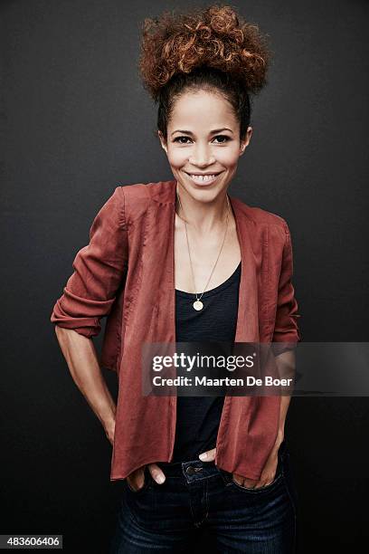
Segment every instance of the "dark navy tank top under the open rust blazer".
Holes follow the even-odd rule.
[[[176,342],[234,342],[240,277],[241,262],[227,281],[203,293],[200,311],[194,310],[194,293],[175,289]],[[215,448],[223,403],[224,396],[177,396],[172,463],[197,460]]]

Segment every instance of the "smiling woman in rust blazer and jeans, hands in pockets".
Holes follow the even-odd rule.
[[[201,529],[222,552],[295,548],[289,396],[144,396],[140,378],[141,348],[158,342],[273,341],[293,361],[289,227],[227,194],[268,62],[258,27],[229,6],[146,20],[140,70],[175,180],[116,188],[52,312],[123,480],[112,552],[185,551]],[[118,372],[117,406],[100,365]]]

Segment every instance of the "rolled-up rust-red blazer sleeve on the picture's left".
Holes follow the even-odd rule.
[[[74,272],[56,301],[51,321],[92,337],[99,334],[100,318],[107,316],[128,266],[125,196],[117,186],[90,227],[90,244],[72,263]]]

